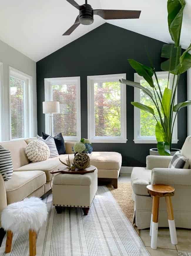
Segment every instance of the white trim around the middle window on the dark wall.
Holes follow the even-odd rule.
[[[126,85],[121,84],[121,136],[104,137],[95,136],[94,133],[94,83],[95,82],[113,82],[119,79],[126,79],[126,74],[112,74],[87,76],[88,84],[88,139],[93,143],[126,143],[127,142],[127,124],[126,124]]]

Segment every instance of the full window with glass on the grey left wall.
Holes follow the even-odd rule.
[[[31,136],[32,77],[9,67],[10,140]]]

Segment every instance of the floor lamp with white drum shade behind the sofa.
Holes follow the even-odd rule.
[[[43,107],[43,114],[50,114],[51,135],[53,136],[52,117],[53,117],[53,114],[60,113],[60,103],[58,101],[43,101],[42,107]]]

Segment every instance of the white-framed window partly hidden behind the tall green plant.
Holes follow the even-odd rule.
[[[158,76],[158,81],[161,87],[162,92],[164,92],[165,87],[167,86],[168,81],[168,72],[156,72]],[[142,76],[139,76],[137,73],[134,74],[135,82],[140,83],[147,89],[152,89],[150,85],[145,81]],[[153,76],[153,81],[155,83],[156,88],[158,88],[156,84],[156,79]],[[169,85],[172,88],[173,75],[170,74]],[[142,104],[148,105],[154,109],[155,115],[159,120],[157,109],[153,103],[153,101],[148,97],[142,90],[138,88],[134,88],[134,101],[140,102]],[[175,98],[175,102],[177,102],[177,95]],[[134,142],[135,143],[157,143],[155,137],[155,126],[156,120],[153,116],[134,107]],[[174,133],[172,138],[172,143],[177,143],[177,120],[175,122]]]

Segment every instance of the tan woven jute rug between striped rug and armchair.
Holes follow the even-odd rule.
[[[111,191],[113,197],[118,202],[121,210],[128,218],[130,223],[133,225],[133,215],[134,215],[134,201],[131,198],[132,195],[132,187],[130,183],[122,183],[118,182],[118,188],[115,189],[110,185],[107,186],[108,189]],[[139,235],[138,228],[133,225],[135,231]]]

